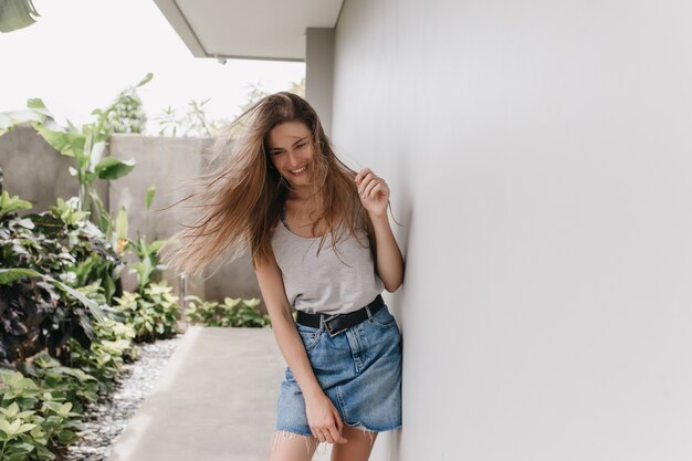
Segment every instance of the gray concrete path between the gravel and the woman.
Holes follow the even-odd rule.
[[[188,328],[108,461],[265,461],[284,369],[269,328]]]

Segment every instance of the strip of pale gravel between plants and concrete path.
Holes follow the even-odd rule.
[[[88,405],[76,443],[67,448],[64,461],[105,461],[129,419],[149,392],[161,369],[168,363],[182,335],[139,344],[139,358],[123,366],[113,394]]]

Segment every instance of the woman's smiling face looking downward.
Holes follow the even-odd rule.
[[[313,172],[313,143],[302,122],[276,125],[269,133],[269,156],[274,168],[294,188],[308,186]]]

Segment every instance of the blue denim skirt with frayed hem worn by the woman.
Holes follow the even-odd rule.
[[[386,305],[334,337],[324,324],[296,327],[315,377],[345,425],[375,432],[401,427],[401,333]],[[281,384],[276,430],[312,436],[290,368]]]

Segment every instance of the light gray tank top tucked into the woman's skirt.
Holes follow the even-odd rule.
[[[305,238],[279,222],[272,249],[281,269],[286,296],[293,307],[308,313],[346,314],[370,303],[384,284],[375,272],[365,229],[332,248],[327,235],[319,255],[321,238]],[[364,247],[365,245],[365,247]]]

